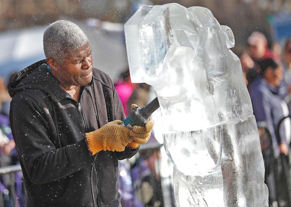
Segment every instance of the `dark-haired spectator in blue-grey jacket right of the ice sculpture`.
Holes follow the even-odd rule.
[[[275,156],[280,153],[288,155],[287,137],[290,137],[290,125],[282,125],[280,129],[281,141],[277,142],[276,126],[281,118],[289,114],[283,97],[279,95],[279,85],[283,79],[283,65],[281,62],[267,58],[262,61],[260,75],[249,86],[249,93],[257,122],[266,122],[272,137]],[[288,120],[286,120],[288,121]]]

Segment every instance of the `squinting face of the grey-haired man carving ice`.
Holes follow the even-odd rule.
[[[84,86],[92,80],[92,55],[89,42],[68,53],[62,64],[57,65],[55,76],[65,87]]]

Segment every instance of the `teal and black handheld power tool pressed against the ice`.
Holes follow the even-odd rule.
[[[149,121],[149,117],[154,111],[160,107],[158,97],[153,99],[149,104],[144,107],[136,107],[130,112],[129,116],[121,122],[120,125],[125,126],[128,129],[133,129],[133,126],[145,126]]]

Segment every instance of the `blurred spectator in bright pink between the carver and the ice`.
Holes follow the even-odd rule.
[[[119,79],[114,84],[115,90],[121,100],[125,116],[129,115],[130,111],[127,108],[127,102],[134,88],[137,85],[138,84],[131,82],[130,75],[129,75],[129,68],[127,68],[125,71],[120,73]]]

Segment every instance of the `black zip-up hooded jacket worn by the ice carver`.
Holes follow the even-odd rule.
[[[120,207],[118,159],[138,149],[102,150],[93,157],[85,143],[86,132],[125,118],[109,76],[94,68],[77,102],[42,60],[19,72],[8,89],[27,206]]]

